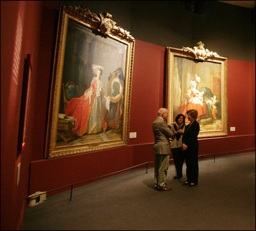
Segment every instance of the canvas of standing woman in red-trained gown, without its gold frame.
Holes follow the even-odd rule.
[[[92,29],[69,20],[62,86],[65,88],[66,83],[73,84],[69,84],[61,93],[56,147],[121,140],[126,53],[126,44],[106,36],[95,35]],[[95,80],[97,68],[101,70],[98,81]],[[90,92],[96,95],[90,95]],[[64,102],[64,93],[67,103]],[[87,103],[81,99],[86,94],[88,99],[90,98],[87,100],[88,105],[83,106],[80,111],[80,104]],[[97,97],[99,94],[101,96]],[[114,100],[115,97],[117,100]],[[68,110],[71,99],[74,105]],[[98,102],[95,102],[96,99]],[[66,122],[69,120],[66,127],[70,129],[65,129],[64,117]],[[105,127],[102,125],[103,129],[90,131],[90,124],[97,122],[107,124]],[[80,129],[80,132],[79,128],[75,129],[76,123],[80,123],[80,126],[88,123],[87,129]]]

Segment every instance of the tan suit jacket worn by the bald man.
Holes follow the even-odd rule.
[[[171,154],[169,138],[173,135],[173,131],[162,117],[158,116],[153,122],[153,132],[155,136],[154,153]]]

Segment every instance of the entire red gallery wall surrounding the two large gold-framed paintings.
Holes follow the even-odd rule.
[[[127,147],[44,159],[57,8],[55,1],[46,2],[1,1],[1,230],[21,229],[26,210],[24,198],[28,194],[154,160],[151,123],[158,108],[164,106],[165,47],[141,40],[135,41],[130,108],[130,132],[137,132],[137,138],[130,139]],[[18,17],[22,39],[19,71],[13,79]],[[221,51],[218,53],[221,54]],[[16,159],[20,86],[26,54],[31,54],[32,60],[30,122],[26,146]],[[235,132],[230,132],[230,127],[235,127]],[[228,60],[228,136],[200,139],[200,154],[253,147],[255,61]],[[19,162],[21,179],[19,186],[16,186]]]

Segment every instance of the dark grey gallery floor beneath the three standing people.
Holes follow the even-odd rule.
[[[153,189],[153,168],[132,170],[28,207],[22,230],[255,230],[255,152],[199,161],[196,187]],[[183,168],[185,175],[185,164]]]

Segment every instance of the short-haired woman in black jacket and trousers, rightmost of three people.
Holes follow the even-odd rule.
[[[193,187],[198,184],[198,133],[200,125],[196,121],[198,111],[191,109],[187,111],[190,123],[186,125],[182,136],[182,149],[185,152],[187,181],[183,186]]]

